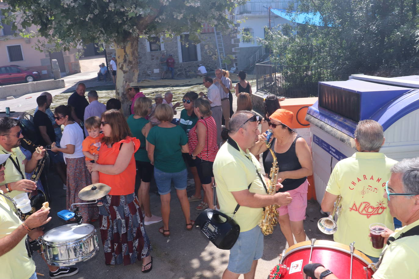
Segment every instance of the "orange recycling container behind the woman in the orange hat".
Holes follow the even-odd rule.
[[[292,121],[292,129],[298,133],[299,136],[302,136],[305,141],[307,141],[308,146],[311,149],[311,133],[310,133],[310,123],[305,120],[305,115],[307,114],[308,107],[312,106],[316,101],[317,97],[308,97],[308,98],[290,98],[285,99],[279,104],[281,108],[285,110],[290,110],[294,113],[294,120]],[[307,177],[308,187],[307,198],[308,200],[316,199],[316,190],[314,188],[314,179],[313,175]]]

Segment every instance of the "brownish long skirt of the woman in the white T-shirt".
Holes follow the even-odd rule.
[[[92,184],[92,177],[86,167],[84,157],[66,158],[67,164],[67,208],[71,208],[72,203],[88,202],[80,200],[78,193],[84,187]],[[98,207],[96,204],[76,205],[80,207],[80,214],[83,216],[83,222],[99,218]]]

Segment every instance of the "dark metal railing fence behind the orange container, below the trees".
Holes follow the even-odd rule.
[[[318,82],[336,80],[330,67],[272,65],[265,61],[255,66],[256,89],[282,97],[317,97]]]

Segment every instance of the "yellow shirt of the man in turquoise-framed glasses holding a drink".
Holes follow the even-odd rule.
[[[417,225],[419,220],[396,230],[391,236],[398,238],[401,233]],[[372,275],[374,279],[419,278],[419,235],[402,237],[384,248],[386,250],[380,267]]]

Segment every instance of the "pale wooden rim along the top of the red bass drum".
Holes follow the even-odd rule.
[[[303,241],[303,242],[294,244],[293,246],[289,247],[285,251],[285,254],[282,256],[281,264],[282,264],[282,261],[290,253],[294,253],[295,251],[300,251],[300,250],[303,250],[303,249],[306,249],[306,248],[311,248],[311,241]],[[330,241],[330,240],[316,240],[316,242],[313,245],[313,248],[331,248],[331,249],[334,249],[334,250],[337,250],[337,251],[348,253],[349,255],[351,254],[351,251],[349,250],[349,245],[339,243],[339,242],[335,242],[335,241]],[[347,249],[345,249],[345,248],[347,248]],[[354,257],[363,261],[364,264],[366,264],[367,266],[372,264],[372,261],[370,260],[370,258],[365,256],[364,253],[362,253],[361,251],[359,251],[357,249],[354,249]],[[371,269],[375,272],[374,268],[371,268]]]

